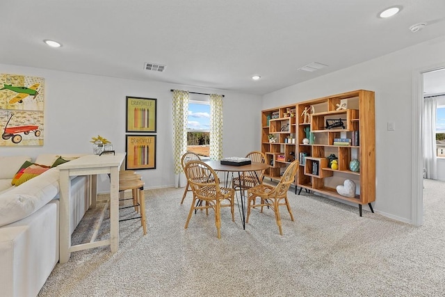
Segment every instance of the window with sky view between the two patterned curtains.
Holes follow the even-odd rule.
[[[187,151],[204,157],[210,156],[209,102],[188,102]]]

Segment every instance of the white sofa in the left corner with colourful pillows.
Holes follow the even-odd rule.
[[[50,166],[55,157],[38,156],[35,163]],[[58,169],[12,186],[26,160],[31,158],[0,157],[1,296],[37,296],[59,259]],[[71,191],[72,233],[90,205],[88,178],[72,179]]]

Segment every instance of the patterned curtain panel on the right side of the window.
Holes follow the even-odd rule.
[[[210,159],[223,158],[223,95],[210,95]]]

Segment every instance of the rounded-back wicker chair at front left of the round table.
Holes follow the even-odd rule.
[[[221,187],[220,180],[218,179],[215,170],[202,161],[189,161],[186,163],[184,172],[186,172],[188,184],[190,184],[193,191],[193,201],[188,213],[185,229],[188,227],[188,222],[193,211],[197,209],[206,209],[208,214],[209,209],[213,209],[213,211],[215,211],[215,225],[216,230],[218,230],[218,239],[220,239],[221,207],[230,207],[232,221],[235,221],[234,189]],[[203,204],[202,202],[205,203]]]

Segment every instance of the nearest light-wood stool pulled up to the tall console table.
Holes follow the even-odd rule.
[[[128,176],[124,176],[128,175]],[[144,197],[144,185],[140,179],[140,175],[123,173],[122,179],[119,176],[119,191],[131,190],[133,195],[133,206],[140,205],[140,216],[136,218],[140,218],[140,225],[143,227],[144,235],[147,234],[147,226],[145,224],[145,197]],[[132,220],[134,218],[127,218],[125,220]],[[122,221],[122,220],[120,220]]]

